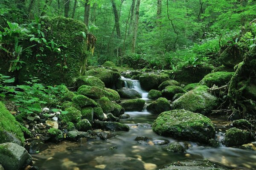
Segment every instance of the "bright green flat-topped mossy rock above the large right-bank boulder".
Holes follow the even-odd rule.
[[[224,72],[219,71],[215,73],[207,74],[199,83],[201,85],[206,85],[207,87],[212,87],[213,85],[222,86],[230,82],[233,77],[234,72]]]

